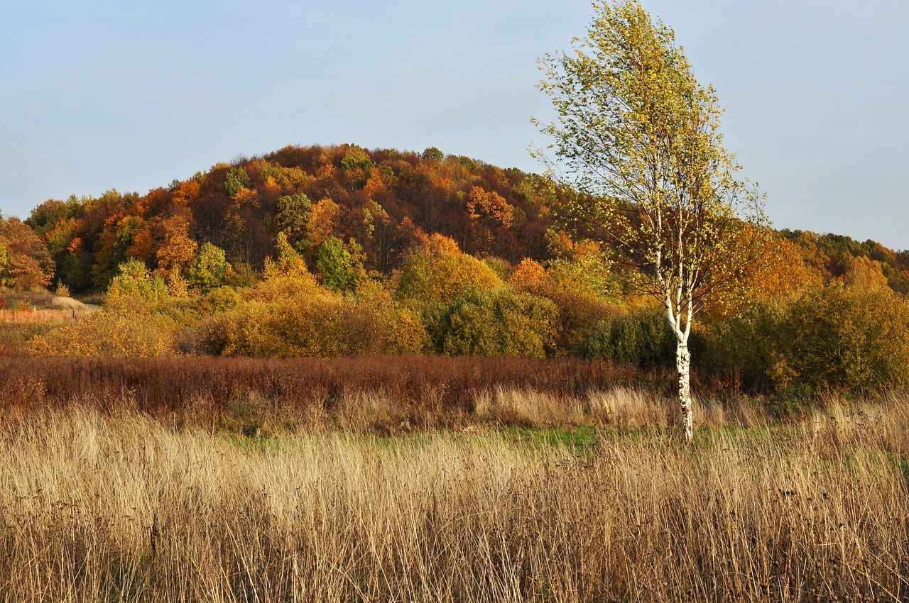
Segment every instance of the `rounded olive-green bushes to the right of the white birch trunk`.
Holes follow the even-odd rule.
[[[746,386],[865,393],[909,386],[909,304],[833,283],[715,325],[705,368]]]

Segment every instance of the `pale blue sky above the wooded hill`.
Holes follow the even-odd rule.
[[[909,3],[651,0],[777,227],[909,248]],[[588,2],[0,0],[0,212],[145,193],[285,144],[539,171],[536,57]]]

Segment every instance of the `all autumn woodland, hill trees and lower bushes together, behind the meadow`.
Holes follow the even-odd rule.
[[[662,307],[620,278],[634,269],[562,227],[578,194],[435,148],[345,144],[240,157],[144,195],[48,200],[25,222],[2,222],[4,303],[76,309],[7,322],[3,343],[33,356],[436,353],[671,367]],[[758,260],[700,310],[698,379],[763,393],[909,384],[909,253],[765,231]],[[843,338],[852,350],[828,353]]]

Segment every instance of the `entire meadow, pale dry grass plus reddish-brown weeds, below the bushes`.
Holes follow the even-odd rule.
[[[900,396],[704,401],[685,446],[661,392],[595,364],[517,386],[528,361],[401,359],[427,391],[209,359],[143,398],[161,366],[4,361],[0,600],[909,597]]]

